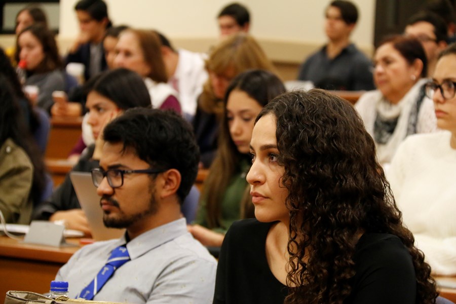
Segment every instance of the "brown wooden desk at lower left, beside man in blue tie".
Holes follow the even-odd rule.
[[[60,267],[77,251],[79,239],[69,239],[74,247],[24,244],[0,236],[0,296],[8,290],[49,292],[49,284]]]

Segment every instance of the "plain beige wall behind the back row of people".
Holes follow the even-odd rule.
[[[228,0],[105,0],[115,24],[156,28],[165,33],[176,47],[204,52],[217,39],[215,16],[231,2]],[[360,18],[352,40],[370,55],[374,28],[374,0],[352,0]],[[60,0],[61,52],[78,33],[73,7],[77,0]],[[325,43],[324,10],[329,3],[321,0],[239,0],[252,18],[251,33],[267,54],[278,63],[297,65]],[[9,46],[14,37],[0,37],[0,45]]]

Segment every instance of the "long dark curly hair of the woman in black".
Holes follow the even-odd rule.
[[[287,284],[297,286],[289,289],[285,303],[343,303],[352,292],[360,232],[399,237],[415,269],[416,303],[434,303],[431,268],[402,225],[375,144],[355,109],[313,89],[278,96],[257,120],[270,113],[289,192]]]

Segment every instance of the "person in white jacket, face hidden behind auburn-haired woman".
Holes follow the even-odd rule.
[[[197,100],[208,78],[205,68],[205,54],[184,49],[174,49],[162,33],[155,31],[162,43],[162,56],[165,62],[168,84],[179,94],[179,102],[186,120],[192,121],[197,109]]]

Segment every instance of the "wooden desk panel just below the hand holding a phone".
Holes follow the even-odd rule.
[[[46,147],[47,158],[66,159],[68,157],[68,153],[81,136],[82,120],[82,117],[51,118],[51,130]]]

